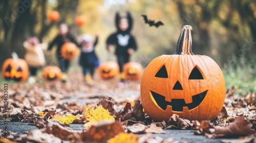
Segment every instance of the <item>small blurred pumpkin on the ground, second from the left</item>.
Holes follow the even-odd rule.
[[[42,78],[48,81],[60,80],[61,74],[58,66],[47,66],[42,70]]]

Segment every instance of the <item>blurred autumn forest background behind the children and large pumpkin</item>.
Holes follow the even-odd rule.
[[[191,25],[194,54],[214,59],[223,69],[228,88],[235,85],[256,90],[256,1],[3,0],[0,1],[0,64],[11,57],[11,52],[23,58],[23,42],[28,37],[37,36],[48,43],[56,36],[58,22],[47,19],[50,10],[59,11],[58,22],[66,21],[78,40],[81,34],[98,33],[96,52],[102,62],[110,57],[105,40],[116,30],[115,12],[130,11],[134,18],[132,32],[139,47],[132,61],[144,67],[157,56],[173,54],[183,25]],[[141,14],[161,20],[164,26],[145,25]],[[75,25],[77,15],[87,17],[86,25]],[[48,64],[55,60],[54,54],[46,58]],[[72,69],[77,69],[77,58],[72,63]]]

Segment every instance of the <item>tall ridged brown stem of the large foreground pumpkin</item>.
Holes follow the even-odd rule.
[[[193,28],[191,26],[183,26],[177,42],[177,51],[174,55],[194,55],[192,53],[192,30]]]

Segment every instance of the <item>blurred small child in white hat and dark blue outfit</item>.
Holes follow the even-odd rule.
[[[99,65],[98,57],[95,54],[95,46],[98,43],[98,35],[95,35],[95,41],[93,41],[91,35],[84,34],[81,37],[81,54],[79,64],[82,66],[84,80],[90,82],[94,79],[95,68]],[[90,75],[87,76],[87,71],[90,71]]]

